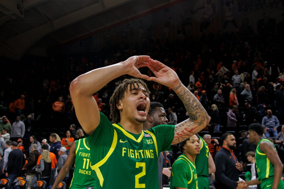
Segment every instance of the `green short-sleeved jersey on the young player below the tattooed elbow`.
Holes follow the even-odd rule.
[[[195,164],[185,154],[181,154],[172,165],[170,189],[190,188],[198,189]]]

